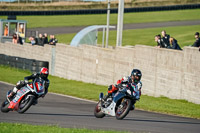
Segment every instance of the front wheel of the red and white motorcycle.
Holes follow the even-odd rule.
[[[17,112],[20,114],[26,112],[31,107],[34,100],[35,100],[35,96],[33,96],[33,95],[24,96],[19,103],[19,108],[18,108]]]

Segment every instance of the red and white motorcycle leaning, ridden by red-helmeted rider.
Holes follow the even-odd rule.
[[[12,99],[8,98],[11,90],[7,92],[7,98],[1,105],[1,112],[17,111],[26,112],[32,105],[37,103],[37,99],[45,94],[45,81],[35,79],[32,83],[20,88]]]

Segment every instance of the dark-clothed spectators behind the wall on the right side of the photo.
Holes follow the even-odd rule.
[[[162,35],[162,36],[161,36]],[[181,47],[178,44],[178,41],[170,37],[169,34],[166,34],[166,31],[163,30],[161,32],[161,35],[158,34],[155,36],[155,42],[157,42],[157,47],[158,48],[168,48],[168,49],[175,49],[175,50],[182,50]],[[200,51],[200,38],[199,38],[199,32],[195,33],[195,42],[192,47],[198,47]]]

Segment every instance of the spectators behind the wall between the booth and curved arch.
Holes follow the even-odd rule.
[[[58,40],[55,38],[54,35],[50,35],[50,39],[48,40],[48,35],[47,33],[39,34],[38,38],[35,37],[29,37],[29,41],[32,45],[39,45],[39,46],[44,46],[45,44],[49,45],[56,45]]]

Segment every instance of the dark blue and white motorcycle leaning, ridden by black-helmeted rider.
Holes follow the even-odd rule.
[[[119,89],[119,91],[103,100],[103,93],[99,95],[99,102],[95,106],[94,115],[96,118],[103,118],[105,115],[115,116],[116,119],[122,120],[135,103],[134,92],[128,88]]]

